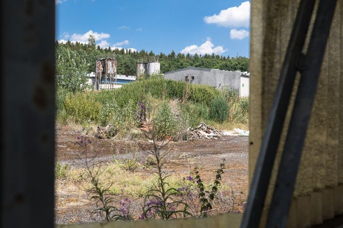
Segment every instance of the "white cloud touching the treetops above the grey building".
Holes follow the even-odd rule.
[[[211,38],[207,38],[207,41],[203,43],[202,45],[191,45],[185,47],[183,50],[180,52],[183,54],[190,53],[191,55],[194,55],[195,53],[197,54],[222,54],[226,52],[227,49],[224,49],[223,46],[217,46],[215,47],[214,44],[211,42]]]

